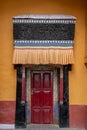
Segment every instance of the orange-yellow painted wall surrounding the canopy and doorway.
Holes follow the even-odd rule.
[[[16,71],[12,65],[12,17],[21,14],[69,14],[77,17],[74,56],[69,72],[70,104],[87,104],[84,0],[0,0],[0,100],[15,101]]]

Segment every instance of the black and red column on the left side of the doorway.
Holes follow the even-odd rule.
[[[16,87],[16,114],[15,114],[15,126],[16,128],[26,127],[25,123],[25,95],[24,89],[24,79],[23,79],[23,68],[22,65],[15,66],[17,70],[17,87]]]

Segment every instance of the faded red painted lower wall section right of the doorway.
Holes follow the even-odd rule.
[[[69,118],[71,128],[85,128],[85,106],[70,105],[69,106]]]

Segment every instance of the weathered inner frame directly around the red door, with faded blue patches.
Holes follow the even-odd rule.
[[[55,91],[57,91],[57,94],[59,94],[59,92],[58,92],[59,87],[58,87],[58,83],[57,83],[57,81],[58,81],[58,79],[57,79],[57,68],[54,67],[54,66],[44,66],[44,65],[39,66],[39,67],[38,66],[27,67],[29,79],[26,80],[26,104],[28,103],[28,100],[31,102],[31,93],[30,93],[31,92],[31,82],[28,82],[28,81],[31,81],[31,71],[52,71],[53,72],[53,124],[58,124],[58,122],[59,122],[58,111],[59,110],[57,110],[57,107],[58,107],[57,103],[59,102],[58,101],[59,95],[57,95],[56,97],[54,96],[55,95],[54,89],[56,89]],[[28,91],[30,91],[30,92],[28,93]],[[54,106],[55,106],[55,108],[54,108]],[[54,109],[56,109],[56,110],[54,110]],[[29,115],[30,115],[29,119],[27,117],[27,119],[29,120],[29,121],[27,121],[27,124],[31,124],[31,103],[26,105],[26,111],[27,111],[26,113],[29,113]]]

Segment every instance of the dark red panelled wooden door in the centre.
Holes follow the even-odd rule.
[[[31,123],[53,122],[52,71],[32,71],[31,74]]]

